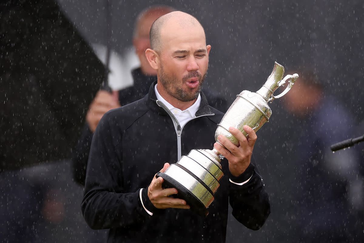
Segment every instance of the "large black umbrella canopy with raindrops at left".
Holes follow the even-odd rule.
[[[0,171],[71,156],[105,68],[53,0],[0,14]]]

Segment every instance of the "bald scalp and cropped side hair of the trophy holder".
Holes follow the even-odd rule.
[[[152,27],[150,28],[151,49],[160,52],[165,34],[170,34],[173,31],[178,31],[181,29],[188,30],[190,28],[201,29],[205,35],[205,31],[203,30],[201,23],[194,16],[188,13],[174,11],[159,17],[154,21]]]

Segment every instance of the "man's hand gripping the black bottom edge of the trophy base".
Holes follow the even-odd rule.
[[[163,169],[160,172],[165,172],[169,167],[168,163],[165,163]],[[157,174],[155,174],[157,175]],[[186,201],[183,199],[177,199],[173,197],[168,197],[173,194],[177,194],[178,191],[175,188],[162,188],[163,178],[158,177],[154,178],[148,187],[148,197],[151,203],[153,203],[154,207],[165,209],[165,208],[183,208],[190,209],[190,206],[187,205]]]

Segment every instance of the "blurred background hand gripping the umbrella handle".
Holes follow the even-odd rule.
[[[120,107],[117,99],[107,91],[100,90],[88,108],[86,122],[92,132],[95,132],[101,117],[109,110]]]

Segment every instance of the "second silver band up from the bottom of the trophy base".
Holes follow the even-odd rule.
[[[207,187],[209,187],[213,193],[215,193],[217,188],[219,188],[220,184],[215,179],[215,177],[213,177],[210,172],[206,171],[205,168],[203,168],[193,159],[187,156],[182,156],[177,164],[182,165],[185,169],[201,179],[203,183],[205,183],[205,185],[207,185]]]

